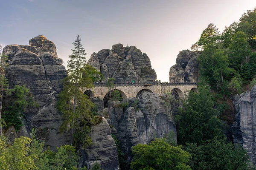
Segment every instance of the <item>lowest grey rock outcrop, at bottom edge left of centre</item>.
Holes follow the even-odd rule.
[[[116,144],[111,136],[108,121],[102,118],[102,123],[91,129],[93,145],[83,151],[81,166],[90,169],[97,161],[104,170],[119,170]]]

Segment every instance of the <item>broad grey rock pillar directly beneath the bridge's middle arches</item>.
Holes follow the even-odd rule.
[[[128,163],[132,160],[131,147],[136,144],[148,144],[152,139],[170,133],[174,134],[176,140],[175,123],[166,102],[159,94],[145,92],[139,101],[136,100],[128,99],[128,108],[114,107],[109,115]]]

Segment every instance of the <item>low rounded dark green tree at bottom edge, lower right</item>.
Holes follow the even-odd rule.
[[[241,146],[214,139],[204,144],[187,143],[193,170],[248,170],[249,156]]]

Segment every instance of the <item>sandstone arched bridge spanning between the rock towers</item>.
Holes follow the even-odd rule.
[[[176,91],[180,97],[183,97],[187,91],[194,90],[197,88],[198,83],[192,82],[160,82],[155,81],[148,84],[137,84],[137,83],[116,83],[115,90],[118,90],[122,95],[123,99],[130,97],[137,97],[138,94],[143,91],[151,93],[164,94],[166,92]],[[103,99],[108,94],[109,89],[106,87],[106,83],[95,83],[95,87],[92,89],[84,89],[84,94],[90,97],[98,97]]]

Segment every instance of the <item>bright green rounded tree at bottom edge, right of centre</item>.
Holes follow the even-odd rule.
[[[149,144],[137,144],[131,148],[134,155],[133,170],[191,170],[186,165],[189,153],[182,146],[171,146],[166,139],[155,139]]]

